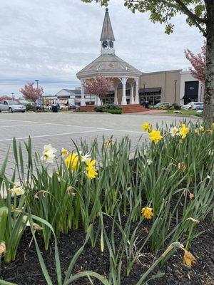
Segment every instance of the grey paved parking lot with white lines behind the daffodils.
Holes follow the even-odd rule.
[[[177,121],[184,118],[177,118]],[[120,139],[129,135],[132,148],[138,139],[148,139],[148,133],[141,130],[144,121],[159,125],[170,125],[175,120],[164,115],[111,115],[108,113],[1,113],[0,114],[0,165],[9,150],[9,161],[6,174],[11,175],[14,170],[13,138],[24,145],[24,140],[32,139],[33,152],[42,152],[44,145],[51,143],[58,153],[61,148],[73,149],[73,142],[84,139],[91,144],[93,138],[98,138],[101,144],[103,136],[106,140]],[[189,119],[195,120],[195,119]],[[23,147],[24,148],[24,147]],[[27,161],[24,152],[24,161]]]

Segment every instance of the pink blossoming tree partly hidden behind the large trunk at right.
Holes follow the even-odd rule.
[[[201,53],[193,54],[189,49],[185,51],[185,57],[193,66],[190,68],[192,76],[202,83],[205,83],[205,68],[206,68],[206,43],[201,48]]]

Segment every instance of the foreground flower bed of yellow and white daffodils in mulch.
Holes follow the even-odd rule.
[[[156,130],[143,123],[142,128],[151,144],[139,142],[131,161],[128,137],[110,138],[101,147],[96,140],[91,147],[81,142],[72,152],[46,145],[34,159],[29,139],[27,171],[23,150],[14,140],[21,185],[14,183],[15,174],[4,175],[6,157],[0,170],[1,279],[14,284],[93,280],[139,285],[156,278],[148,284],[161,284],[158,270],[165,264],[161,272],[166,277],[173,266],[179,274],[170,276],[171,283],[162,277],[163,284],[198,284],[191,267],[198,270],[197,261],[211,264],[199,257],[204,258],[203,237],[209,239],[203,229],[213,220],[213,125],[183,123]],[[56,169],[50,174],[52,162]],[[170,269],[168,259],[173,261]],[[188,283],[183,271],[196,283]],[[206,284],[211,274],[205,276]]]

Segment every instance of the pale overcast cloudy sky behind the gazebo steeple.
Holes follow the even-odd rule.
[[[100,54],[105,8],[81,0],[0,0],[0,95],[39,79],[46,94],[79,86],[76,73]],[[140,71],[187,69],[184,49],[199,52],[203,36],[173,22],[170,36],[148,14],[132,14],[123,0],[108,6],[116,38],[116,55]]]

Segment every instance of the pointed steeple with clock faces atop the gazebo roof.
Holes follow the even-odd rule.
[[[108,8],[106,8],[106,14],[103,21],[103,29],[101,33],[101,55],[102,54],[115,54],[113,42],[115,38],[113,36],[113,30],[111,26],[111,21],[108,13]]]

